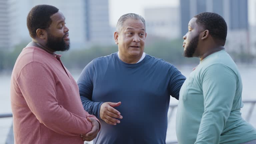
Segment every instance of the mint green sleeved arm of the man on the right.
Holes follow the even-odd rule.
[[[218,144],[232,109],[236,76],[223,64],[210,66],[202,75],[204,113],[195,144]]]

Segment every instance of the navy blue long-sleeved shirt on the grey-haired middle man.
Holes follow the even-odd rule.
[[[100,119],[94,144],[165,144],[170,95],[179,99],[185,81],[180,71],[162,59],[146,55],[127,64],[117,53],[96,58],[82,71],[78,86],[84,109],[98,119],[103,102],[115,107],[123,119],[110,125]]]

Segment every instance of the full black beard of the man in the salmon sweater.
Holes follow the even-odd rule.
[[[64,37],[59,38],[59,37],[54,37],[51,35],[49,32],[47,33],[48,41],[46,43],[46,46],[50,48],[53,51],[67,51],[69,50],[70,44],[66,44],[64,41]]]

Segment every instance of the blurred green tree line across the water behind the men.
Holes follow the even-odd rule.
[[[17,45],[13,51],[0,51],[0,71],[12,70],[17,57],[27,43]],[[92,46],[90,48],[70,49],[62,54],[61,60],[68,69],[83,69],[90,61],[97,57],[117,52],[117,45]],[[163,40],[145,45],[144,51],[156,58],[164,59],[174,65],[198,64],[199,58],[185,58],[183,56],[182,40]],[[59,52],[58,52],[59,53]],[[250,63],[255,56],[247,53],[230,53],[236,62]]]

